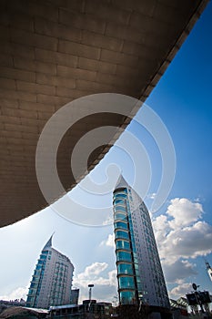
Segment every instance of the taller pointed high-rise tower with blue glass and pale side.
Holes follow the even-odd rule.
[[[113,207],[120,304],[169,308],[149,213],[122,176],[114,190]]]

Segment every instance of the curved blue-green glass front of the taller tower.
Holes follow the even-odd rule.
[[[138,304],[140,278],[128,195],[126,188],[117,189],[113,201],[118,294],[120,304]]]

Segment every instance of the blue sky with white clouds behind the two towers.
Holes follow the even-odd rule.
[[[193,282],[212,293],[203,259],[206,255],[212,265],[211,16],[212,4],[209,3],[146,100],[167,126],[177,157],[173,187],[167,201],[152,217],[168,290],[173,298],[189,292]],[[150,208],[161,176],[160,154],[154,140],[136,122],[132,122],[123,135],[123,145],[128,145],[130,136],[145,145],[151,162],[152,177],[145,199]],[[117,147],[111,149],[105,161],[96,168],[94,179],[106,179],[106,166],[111,162],[119,166],[131,183],[133,160],[130,154]],[[77,188],[70,196],[77,199],[80,191]],[[93,197],[89,196],[85,195],[86,201],[92,207]],[[101,198],[102,205],[110,201],[111,193]],[[108,211],[111,214],[110,209]],[[64,252],[75,265],[74,283],[81,289],[81,298],[87,297],[87,283],[95,283],[94,298],[112,300],[116,295],[112,225],[80,226],[66,221],[50,208],[0,229],[3,260],[0,297],[25,296],[35,262],[53,232],[56,232],[54,247]]]

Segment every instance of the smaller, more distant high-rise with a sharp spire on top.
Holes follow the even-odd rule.
[[[26,306],[48,309],[50,305],[70,304],[74,266],[52,247],[52,236],[46,242],[35,266]]]

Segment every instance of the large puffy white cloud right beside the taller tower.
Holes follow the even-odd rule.
[[[168,283],[182,283],[197,274],[195,264],[187,260],[212,252],[212,226],[201,221],[202,214],[199,202],[177,198],[170,201],[166,214],[152,221]]]

